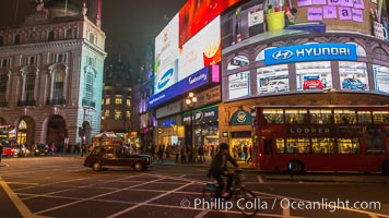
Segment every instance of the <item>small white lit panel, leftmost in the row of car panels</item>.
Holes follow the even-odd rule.
[[[250,95],[250,72],[240,72],[228,76],[229,99],[248,97]]]

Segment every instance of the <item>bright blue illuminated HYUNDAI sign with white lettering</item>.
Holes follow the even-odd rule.
[[[354,44],[310,44],[264,50],[264,65],[321,60],[356,61]]]

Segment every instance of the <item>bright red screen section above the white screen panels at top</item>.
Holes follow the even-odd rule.
[[[240,0],[188,0],[179,10],[179,46]]]

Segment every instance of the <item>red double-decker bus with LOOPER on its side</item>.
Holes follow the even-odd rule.
[[[259,170],[389,174],[389,107],[256,107]]]

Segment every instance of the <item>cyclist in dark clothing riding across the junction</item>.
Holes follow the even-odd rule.
[[[211,162],[210,170],[208,172],[208,177],[209,178],[211,178],[211,177],[214,178],[219,183],[219,186],[217,186],[216,192],[215,192],[215,197],[216,198],[220,198],[222,196],[223,197],[228,196],[228,194],[229,194],[228,192],[231,190],[231,186],[233,185],[234,175],[227,169],[227,162],[228,161],[234,167],[239,169],[239,166],[236,164],[234,158],[232,158],[229,156],[228,145],[226,143],[221,143],[220,144],[220,150],[214,156],[214,158],[213,158],[213,160]],[[223,192],[223,189],[224,189],[224,181],[223,181],[222,175],[227,178],[226,193],[224,193],[223,195],[222,195],[222,192]]]

